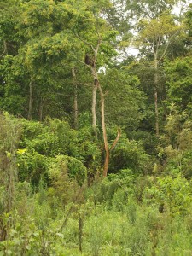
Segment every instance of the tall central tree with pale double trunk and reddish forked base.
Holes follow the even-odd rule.
[[[92,86],[92,128],[96,134],[96,92],[99,90],[101,99],[101,121],[102,121],[102,137],[105,148],[105,163],[103,167],[103,177],[108,174],[108,162],[109,162],[109,149],[108,146],[108,136],[105,121],[105,93],[99,78],[98,70],[102,65],[106,65],[110,58],[114,55],[115,51],[113,49],[113,41],[115,40],[116,32],[108,25],[106,20],[102,18],[103,9],[108,7],[108,2],[103,3],[98,1],[98,3],[91,2],[89,6],[86,7],[84,11],[84,16],[89,17],[84,21],[86,30],[82,30],[82,24],[78,22],[74,29],[74,34],[79,38],[80,42],[84,43],[86,46],[86,51],[84,53],[84,62],[86,67],[89,68],[90,73],[93,78]],[[80,60],[83,62],[82,60]],[[119,140],[120,131],[113,142],[112,148]]]

